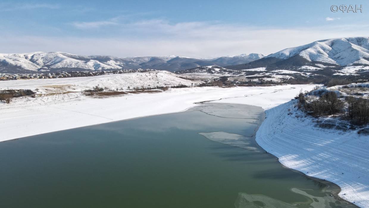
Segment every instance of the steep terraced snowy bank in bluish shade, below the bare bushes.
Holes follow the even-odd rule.
[[[284,166],[331,181],[339,196],[369,207],[369,136],[315,127],[292,100],[266,110],[256,142]]]

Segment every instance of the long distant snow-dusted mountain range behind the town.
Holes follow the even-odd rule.
[[[242,54],[234,57],[197,59],[177,57],[126,57],[83,56],[64,52],[33,52],[25,54],[0,54],[0,73],[31,71],[84,71],[117,69],[159,69],[177,71],[208,65],[247,63],[263,57],[262,54]]]

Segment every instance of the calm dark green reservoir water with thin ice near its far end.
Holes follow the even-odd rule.
[[[255,106],[207,104],[1,142],[0,207],[355,207],[258,147],[263,117]],[[199,134],[210,132],[248,136],[254,150]]]

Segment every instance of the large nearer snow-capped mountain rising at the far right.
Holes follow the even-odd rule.
[[[334,38],[270,54],[247,64],[230,66],[230,69],[266,67],[267,70],[315,67],[340,69],[346,66],[369,65],[369,37]]]

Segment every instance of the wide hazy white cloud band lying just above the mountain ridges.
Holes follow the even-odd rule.
[[[103,25],[109,28],[109,38]],[[214,22],[182,22],[166,20],[97,21],[74,24],[79,28],[96,28],[96,33],[71,37],[19,36],[0,31],[2,53],[30,51],[63,51],[80,55],[114,55],[118,57],[146,55],[181,55],[213,58],[244,53],[270,54],[284,48],[338,37],[362,36],[368,25],[332,25],[330,27],[271,28],[249,27]],[[360,28],[360,30],[357,30]],[[3,35],[1,35],[3,33]],[[61,44],[62,43],[62,44]]]

